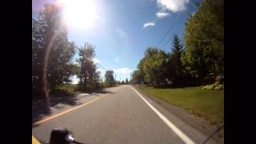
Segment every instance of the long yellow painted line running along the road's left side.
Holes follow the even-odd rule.
[[[55,115],[50,116],[50,117],[48,117],[48,118],[44,118],[44,119],[42,119],[42,120],[40,120],[40,121],[38,121],[38,122],[34,122],[33,126],[36,126],[36,125],[38,125],[38,124],[41,124],[42,122],[49,121],[50,119],[57,118],[57,117],[59,117],[59,116],[61,116],[61,115],[63,115],[63,114],[69,113],[70,111],[76,110],[76,109],[78,109],[78,108],[80,108],[80,107],[82,107],[82,106],[86,106],[86,105],[90,104],[91,102],[94,102],[94,101],[97,101],[98,99],[104,98],[105,96],[106,96],[106,95],[103,95],[103,96],[101,96],[101,97],[99,97],[99,98],[94,98],[94,99],[92,99],[91,101],[86,102],[86,103],[84,103],[84,104],[82,104],[82,105],[80,105],[80,106],[76,106],[76,107],[71,108],[71,109],[69,109],[69,110],[63,111],[63,112],[61,112],[61,113],[59,113],[59,114],[55,114]]]

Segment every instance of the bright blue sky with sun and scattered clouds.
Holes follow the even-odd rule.
[[[114,76],[120,81],[130,79],[130,74],[136,70],[147,47],[158,46],[161,50],[170,51],[173,34],[178,34],[179,38],[183,37],[189,14],[197,11],[194,2],[201,2],[201,0],[62,1],[73,2],[68,3],[67,7],[74,4],[73,9],[66,9],[69,41],[75,42],[79,47],[84,46],[85,42],[94,45],[96,53],[94,62],[97,63],[102,77],[106,70],[114,70]],[[38,10],[49,2],[57,1],[32,0],[32,17],[37,18]],[[78,5],[75,5],[75,2]],[[76,55],[75,58],[77,57]],[[74,82],[77,82],[75,78]]]

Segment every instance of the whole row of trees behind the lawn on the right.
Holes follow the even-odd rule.
[[[169,52],[148,47],[132,83],[154,86],[200,86],[224,77],[224,1],[197,4],[185,24],[184,46],[177,34]]]

